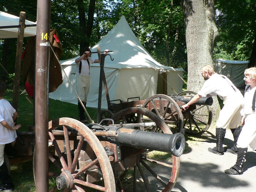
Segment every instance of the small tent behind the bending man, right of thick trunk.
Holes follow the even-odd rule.
[[[244,86],[244,71],[249,61],[235,61],[218,59],[214,61],[214,70],[217,74],[227,76],[236,87]]]

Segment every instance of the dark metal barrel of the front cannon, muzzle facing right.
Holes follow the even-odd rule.
[[[185,149],[185,138],[182,133],[166,134],[148,132],[138,129],[117,129],[116,142],[135,148],[163,151],[180,157]]]

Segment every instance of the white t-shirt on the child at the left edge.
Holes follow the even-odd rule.
[[[11,126],[14,123],[12,116],[15,112],[16,110],[7,100],[0,99],[0,122],[5,120]],[[11,143],[16,138],[16,131],[11,131],[0,123],[0,144]]]

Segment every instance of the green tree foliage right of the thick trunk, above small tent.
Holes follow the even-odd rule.
[[[250,60],[256,33],[256,1],[216,0],[216,8],[220,35],[215,59],[225,54],[233,60]]]

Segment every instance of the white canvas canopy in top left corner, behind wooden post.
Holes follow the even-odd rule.
[[[26,20],[25,25],[35,25],[36,23]],[[18,26],[19,17],[7,14],[0,11],[0,27],[5,26]],[[34,36],[36,34],[36,27],[26,27],[24,31],[24,37]],[[0,38],[17,38],[18,37],[18,28],[4,28],[0,29]]]

